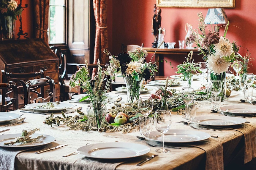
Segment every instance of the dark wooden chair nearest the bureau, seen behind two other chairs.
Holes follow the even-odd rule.
[[[9,81],[14,81],[16,83],[17,89],[18,89],[18,98],[20,98],[18,105],[16,106],[17,109],[20,107],[23,107],[23,100],[24,100],[24,90],[23,85],[21,84],[20,80],[29,80],[29,79],[35,79],[35,78],[44,78],[44,70],[40,70],[40,72],[34,72],[34,73],[14,73],[14,72],[5,72],[4,70],[1,70],[2,72],[2,82],[8,83]],[[9,94],[12,93],[12,90],[8,91],[8,94],[2,93],[2,98],[5,99],[5,97],[8,97]],[[18,99],[17,98],[17,99]],[[17,100],[18,101],[18,100]],[[3,105],[5,105],[5,100],[3,101]]]

